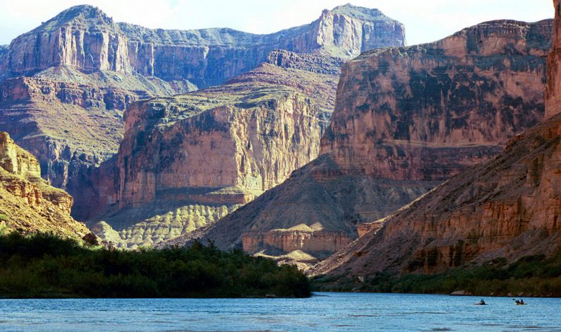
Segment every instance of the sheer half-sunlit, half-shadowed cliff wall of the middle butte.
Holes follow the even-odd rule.
[[[117,166],[121,207],[149,203],[160,191],[234,186],[246,194],[232,203],[247,203],[318,155],[320,111],[306,96],[228,97],[239,99],[215,106],[193,94],[128,111]]]

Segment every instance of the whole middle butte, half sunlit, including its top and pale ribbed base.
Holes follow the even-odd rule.
[[[318,155],[336,84],[262,64],[215,88],[136,102],[116,156],[117,204],[93,219],[104,222],[97,234],[118,234],[121,247],[158,244],[277,186]]]

